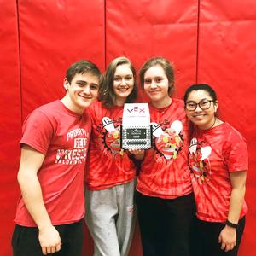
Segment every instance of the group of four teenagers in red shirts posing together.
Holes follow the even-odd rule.
[[[237,255],[247,213],[244,138],[219,119],[209,85],[172,97],[165,58],[146,61],[139,81],[153,127],[146,150],[120,148],[123,107],[138,90],[126,57],[103,75],[90,61],[73,63],[66,95],[26,118],[15,256],[81,255],[84,218],[94,256],[126,256],[136,217],[145,256]]]

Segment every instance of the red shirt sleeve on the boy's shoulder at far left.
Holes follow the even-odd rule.
[[[26,118],[22,133],[20,146],[26,144],[45,155],[54,135],[54,125],[45,113],[35,110]]]

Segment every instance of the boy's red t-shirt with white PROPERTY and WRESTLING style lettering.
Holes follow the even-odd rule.
[[[89,115],[73,113],[61,101],[37,108],[23,125],[20,144],[45,155],[38,179],[52,224],[70,224],[84,217],[84,166],[90,130]],[[36,226],[22,197],[15,222]]]

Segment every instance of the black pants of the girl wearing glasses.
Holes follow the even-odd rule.
[[[225,252],[218,243],[218,236],[225,224],[196,220],[194,230],[195,253],[198,256],[236,256],[241,242],[241,236],[245,227],[245,217],[241,218],[236,230],[236,247]]]

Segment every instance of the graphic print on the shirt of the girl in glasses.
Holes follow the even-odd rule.
[[[189,144],[189,167],[195,177],[201,178],[202,181],[207,177],[207,172],[211,172],[211,165],[208,160],[209,155],[212,153],[210,146],[202,147],[204,142],[199,143],[194,137]],[[208,160],[208,161],[207,161]],[[207,171],[207,169],[209,171]]]

